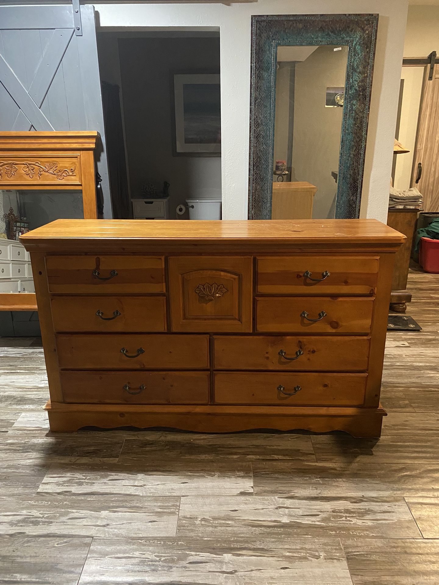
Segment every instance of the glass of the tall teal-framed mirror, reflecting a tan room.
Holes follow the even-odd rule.
[[[272,219],[335,217],[348,47],[277,48]]]

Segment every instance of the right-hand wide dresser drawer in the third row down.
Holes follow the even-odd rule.
[[[217,336],[214,369],[364,371],[369,344],[367,337]]]

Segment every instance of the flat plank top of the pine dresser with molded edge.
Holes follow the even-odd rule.
[[[146,221],[145,219],[57,219],[25,233],[28,250],[87,250],[93,246],[147,247],[206,245],[384,246],[398,247],[402,233],[376,219],[304,219],[252,221]],[[268,246],[267,246],[268,247]]]

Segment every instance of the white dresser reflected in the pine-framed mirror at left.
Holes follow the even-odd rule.
[[[0,292],[35,292],[29,252],[20,242],[0,239]]]

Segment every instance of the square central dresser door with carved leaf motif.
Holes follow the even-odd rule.
[[[251,257],[172,257],[169,283],[173,331],[252,331]]]

